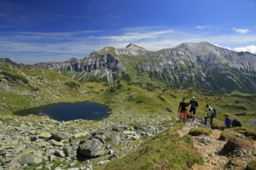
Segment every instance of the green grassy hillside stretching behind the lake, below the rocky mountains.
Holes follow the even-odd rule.
[[[0,65],[0,73],[3,87],[0,90],[2,113],[49,103],[88,99],[108,105],[113,114],[129,111],[134,116],[177,116],[177,105],[180,100],[183,97],[189,100],[195,96],[200,105],[197,116],[204,115],[205,105],[209,103],[218,109],[219,122],[223,122],[224,114],[229,113],[233,117],[237,116],[242,122],[250,122],[252,125],[255,123],[256,96],[250,94],[213,94],[191,89],[147,90],[122,81],[109,87],[107,83],[101,82],[77,82],[55,71],[20,70],[6,63]],[[22,82],[23,79],[27,82]],[[68,86],[68,82],[77,84],[76,88]]]

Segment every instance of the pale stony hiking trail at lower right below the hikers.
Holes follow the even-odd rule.
[[[179,136],[183,136],[185,134],[189,133],[189,130],[191,128],[196,128],[199,126],[204,126],[201,123],[200,119],[195,119],[195,122],[187,122],[186,125],[182,128],[177,130],[177,133]],[[195,150],[197,150],[201,156],[203,157],[204,164],[203,165],[197,165],[195,164],[193,167],[191,167],[192,170],[218,170],[218,169],[226,169],[226,170],[238,170],[243,169],[246,167],[246,162],[252,158],[252,156],[247,157],[236,157],[236,162],[241,161],[237,166],[227,166],[231,160],[231,158],[227,156],[220,156],[218,155],[218,152],[224,147],[224,144],[226,144],[226,141],[218,140],[220,133],[222,131],[218,129],[212,129],[212,134],[208,136],[196,136],[193,137],[195,139],[194,147]],[[201,141],[205,140],[205,141]],[[255,142],[254,142],[255,147]],[[253,156],[254,157],[254,156]],[[254,157],[255,158],[255,157]]]

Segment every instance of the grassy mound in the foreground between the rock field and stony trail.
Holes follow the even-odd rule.
[[[96,168],[103,169],[189,169],[195,163],[202,164],[202,157],[193,148],[193,139],[189,135],[182,138],[176,133],[177,127],[171,127],[154,139],[143,144],[125,157]]]

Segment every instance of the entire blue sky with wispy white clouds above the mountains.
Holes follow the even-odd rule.
[[[133,42],[211,42],[256,54],[256,0],[0,0],[0,57],[32,64]]]

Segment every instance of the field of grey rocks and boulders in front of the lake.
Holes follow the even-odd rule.
[[[93,169],[135,150],[144,141],[173,126],[171,116],[122,121],[57,122],[48,116],[0,116],[0,169]],[[167,123],[166,123],[167,122]]]

